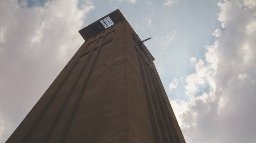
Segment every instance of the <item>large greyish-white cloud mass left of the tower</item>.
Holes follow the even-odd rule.
[[[94,6],[90,0],[80,2],[48,0],[44,6],[27,7],[26,0],[1,1],[1,143],[84,42],[78,30]]]

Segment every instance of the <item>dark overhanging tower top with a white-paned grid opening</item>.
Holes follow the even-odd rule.
[[[79,33],[85,40],[87,40],[90,37],[123,20],[125,20],[124,15],[120,12],[119,9],[117,9],[79,30]]]

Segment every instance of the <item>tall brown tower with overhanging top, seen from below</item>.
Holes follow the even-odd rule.
[[[150,54],[119,10],[85,42],[7,143],[185,143]]]

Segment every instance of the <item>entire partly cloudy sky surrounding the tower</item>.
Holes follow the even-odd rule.
[[[0,143],[120,9],[155,57],[187,143],[256,143],[255,0],[0,0]]]

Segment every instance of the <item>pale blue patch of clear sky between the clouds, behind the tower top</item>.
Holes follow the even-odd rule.
[[[87,17],[85,26],[95,21],[95,17],[102,17],[104,12],[119,8],[141,39],[152,37],[145,44],[156,58],[157,68],[161,69],[158,72],[169,97],[186,98],[182,92],[185,82],[173,91],[168,90],[169,83],[175,77],[186,77],[194,72],[190,57],[204,58],[205,46],[216,39],[212,32],[221,27],[217,19],[220,9],[217,0],[165,3],[165,0],[141,0],[136,3],[96,0],[95,9],[89,12],[92,16]]]

